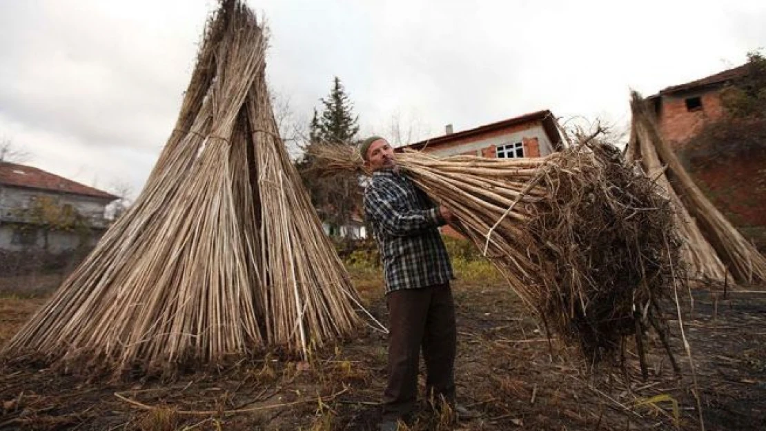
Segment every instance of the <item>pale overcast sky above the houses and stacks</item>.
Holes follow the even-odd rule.
[[[270,86],[308,121],[332,77],[362,133],[415,138],[551,109],[629,120],[644,95],[766,47],[766,2],[275,0]],[[0,0],[0,138],[28,164],[137,194],[175,122],[211,0]]]

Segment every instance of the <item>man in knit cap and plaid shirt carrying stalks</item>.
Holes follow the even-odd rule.
[[[421,348],[429,397],[455,407],[454,363],[457,345],[450,289],[450,256],[438,227],[451,223],[447,207],[434,207],[396,166],[394,149],[380,136],[359,147],[372,181],[365,189],[365,216],[381,250],[390,315],[388,385],[383,393],[380,429],[397,429],[411,419],[417,401]],[[462,414],[461,414],[462,412]]]

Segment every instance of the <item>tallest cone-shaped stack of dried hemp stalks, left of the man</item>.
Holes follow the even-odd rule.
[[[136,204],[5,358],[167,374],[354,333],[357,294],[277,133],[266,44],[252,11],[221,2]]]

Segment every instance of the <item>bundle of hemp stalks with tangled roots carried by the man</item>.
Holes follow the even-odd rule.
[[[654,328],[673,361],[659,299],[675,278],[679,240],[660,188],[591,136],[543,158],[397,155],[398,168],[450,207],[473,240],[549,330],[588,362]],[[328,172],[362,170],[348,147],[314,149]],[[678,367],[676,372],[678,371]]]

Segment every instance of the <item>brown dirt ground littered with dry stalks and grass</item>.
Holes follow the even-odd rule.
[[[374,315],[385,322],[379,279],[356,279]],[[545,333],[502,283],[457,282],[457,385],[460,403],[480,413],[470,422],[422,409],[412,429],[764,429],[766,424],[766,289],[680,292],[695,364],[668,307],[677,380],[653,341],[649,378],[634,355],[627,367],[586,372],[574,348]],[[0,298],[0,344],[42,303]],[[327,346],[309,361],[277,355],[173,380],[89,381],[41,366],[0,367],[0,429],[375,429],[385,383],[385,335]],[[626,374],[631,384],[626,384]],[[422,379],[422,375],[421,375]],[[421,381],[422,387],[422,381]]]

